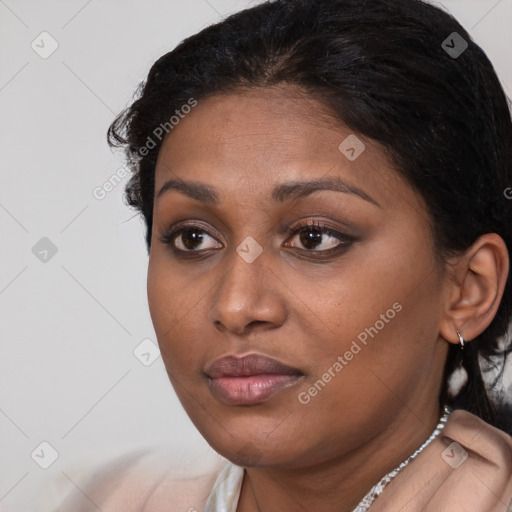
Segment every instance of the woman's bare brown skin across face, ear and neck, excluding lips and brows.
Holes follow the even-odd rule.
[[[458,343],[457,329],[466,341],[482,332],[503,293],[503,240],[484,235],[436,265],[422,198],[375,142],[358,136],[366,149],[349,161],[338,146],[351,133],[290,86],[249,89],[201,100],[160,150],[156,195],[177,179],[207,184],[220,199],[209,205],[172,189],[155,198],[148,299],[183,407],[216,451],[247,468],[238,512],[352,511],[435,428],[448,344]],[[325,176],[378,204],[331,190],[272,200],[278,184]],[[308,249],[281,228],[308,220],[354,241],[319,257],[340,240],[324,232]],[[178,222],[199,222],[193,232],[203,239],[188,247],[201,257],[180,258],[160,241]],[[252,263],[236,252],[249,236],[263,250]],[[181,236],[175,244],[187,247]],[[301,403],[299,393],[394,303],[396,316]],[[205,366],[249,353],[304,376],[262,403],[221,403]]]

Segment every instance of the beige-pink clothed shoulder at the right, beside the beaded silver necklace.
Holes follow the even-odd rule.
[[[457,409],[375,502],[375,512],[511,512],[512,438]]]

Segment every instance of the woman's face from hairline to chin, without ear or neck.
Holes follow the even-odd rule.
[[[205,439],[245,466],[323,463],[397,425],[425,438],[447,354],[420,196],[376,143],[293,92],[199,101],[156,167],[162,357]]]

